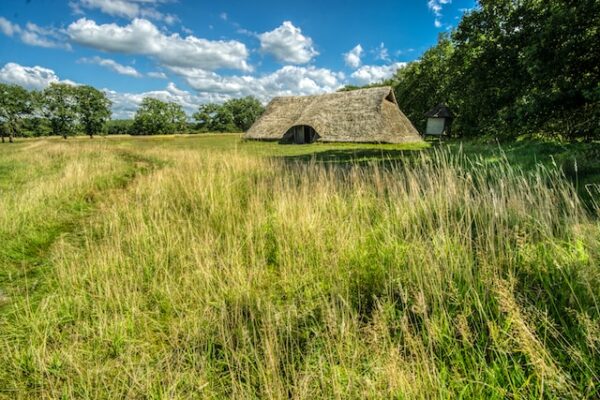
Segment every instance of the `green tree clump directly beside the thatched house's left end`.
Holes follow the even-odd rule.
[[[252,97],[231,99],[222,105],[202,104],[193,117],[202,132],[244,132],[260,117],[264,107]]]

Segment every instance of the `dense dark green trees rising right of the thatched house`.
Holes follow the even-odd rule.
[[[600,1],[480,0],[392,85],[423,131],[444,102],[465,136],[600,138]]]

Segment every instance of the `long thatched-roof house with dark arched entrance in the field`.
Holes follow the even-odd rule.
[[[282,143],[421,140],[390,87],[276,97],[244,137]]]

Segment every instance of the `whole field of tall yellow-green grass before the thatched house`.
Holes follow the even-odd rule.
[[[0,398],[598,398],[599,159],[0,146]]]

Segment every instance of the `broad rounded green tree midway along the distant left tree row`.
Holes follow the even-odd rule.
[[[135,114],[132,135],[167,135],[186,128],[186,115],[179,104],[146,97]]]

